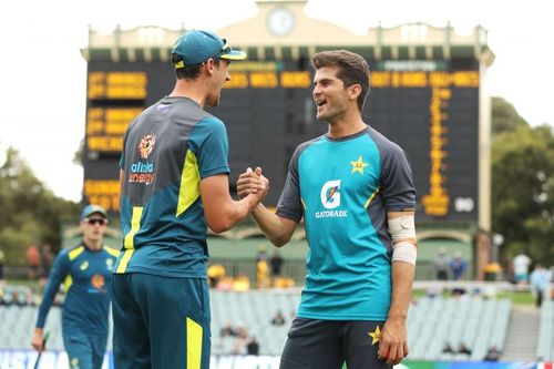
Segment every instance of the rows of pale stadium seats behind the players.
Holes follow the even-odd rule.
[[[211,289],[213,368],[218,368],[222,363],[217,362],[222,360],[235,362],[225,368],[242,368],[240,360],[248,357],[247,344],[253,338],[259,344],[259,351],[249,360],[265,360],[266,366],[259,368],[277,368],[273,365],[278,362],[285,345],[300,289],[220,288]],[[416,290],[423,294],[416,294],[418,297],[412,299],[408,314],[410,356],[406,366],[456,362],[456,368],[460,368],[463,362],[472,365],[490,359],[505,362],[507,359],[513,365],[511,368],[519,368],[516,362],[554,360],[554,301],[551,294],[545,296],[542,307],[536,308],[516,305],[505,297],[509,296],[506,291],[530,295],[529,289],[522,290],[507,283],[421,281],[417,283]],[[39,296],[27,285],[4,284],[0,289],[0,368],[19,368],[13,362],[30,362],[35,358],[35,352],[30,350],[30,340]],[[57,297],[47,320],[49,352],[41,359],[44,361],[40,368],[50,368],[48,365],[64,368],[61,304],[63,294]],[[273,318],[279,311],[284,319],[276,324]],[[110,331],[112,334],[112,329]],[[109,358],[111,345],[110,338]],[[492,348],[499,352],[494,359],[488,357]],[[8,366],[9,362],[12,366]]]

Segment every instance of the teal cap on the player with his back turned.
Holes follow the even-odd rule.
[[[173,45],[172,53],[183,58],[175,68],[202,64],[208,59],[244,60],[244,51],[230,49],[227,40],[214,32],[191,30],[183,33]]]

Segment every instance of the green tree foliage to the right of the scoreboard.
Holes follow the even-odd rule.
[[[552,127],[530,127],[501,99],[494,99],[493,106],[493,230],[504,236],[504,255],[522,252],[537,263],[554,265]]]

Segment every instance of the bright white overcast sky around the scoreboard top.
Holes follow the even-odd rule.
[[[495,53],[489,70],[491,95],[506,99],[532,125],[554,125],[551,90],[554,52],[550,1],[310,0],[309,17],[356,33],[427,22],[461,32],[476,24],[489,30]],[[0,164],[14,146],[35,175],[58,196],[80,201],[83,172],[72,164],[84,136],[86,63],[80,49],[89,25],[110,31],[162,25],[217,31],[256,17],[255,1],[2,1],[0,3]],[[173,86],[167,86],[167,91]]]

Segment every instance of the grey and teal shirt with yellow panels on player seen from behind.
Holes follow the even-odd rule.
[[[123,249],[114,271],[206,278],[203,178],[228,174],[225,124],[187,98],[164,98],[129,126],[120,167]]]

